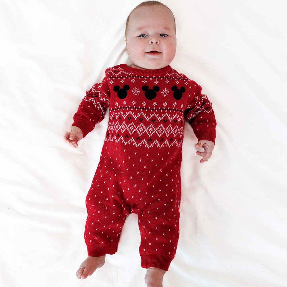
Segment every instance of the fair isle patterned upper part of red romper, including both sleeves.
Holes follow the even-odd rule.
[[[215,141],[211,102],[199,85],[170,66],[146,71],[122,64],[107,69],[102,83],[87,91],[73,125],[86,136],[108,107],[106,141],[148,148],[180,147],[184,119],[199,140]]]

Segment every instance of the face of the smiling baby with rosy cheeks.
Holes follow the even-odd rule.
[[[135,9],[127,28],[127,54],[138,69],[162,69],[176,53],[176,32],[172,13],[162,5]]]

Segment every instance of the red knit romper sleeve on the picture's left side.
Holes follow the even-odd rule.
[[[84,137],[94,129],[96,123],[102,121],[106,115],[106,109],[110,105],[110,90],[106,77],[101,84],[94,84],[86,92],[77,113],[73,119],[73,126],[79,127]]]

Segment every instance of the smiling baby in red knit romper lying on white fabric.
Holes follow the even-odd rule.
[[[87,259],[77,270],[87,278],[115,254],[127,215],[138,215],[141,266],[148,287],[162,287],[179,238],[184,120],[198,138],[200,162],[214,149],[216,120],[201,87],[172,69],[176,53],[173,13],[158,1],[138,5],[126,23],[133,65],[106,69],[102,83],[86,92],[65,133],[72,147],[109,108],[100,162],[86,197]]]

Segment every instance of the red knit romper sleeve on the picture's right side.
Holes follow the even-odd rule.
[[[190,123],[198,140],[205,139],[215,143],[216,120],[212,104],[207,96],[201,94],[201,87],[198,84],[192,80],[189,84],[185,120]]]

